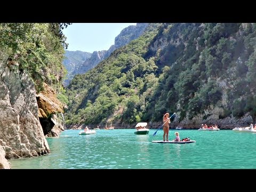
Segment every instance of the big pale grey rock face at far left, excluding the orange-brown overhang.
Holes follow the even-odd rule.
[[[34,83],[26,71],[6,61],[7,55],[0,52],[0,146],[5,158],[49,153],[38,118]]]

